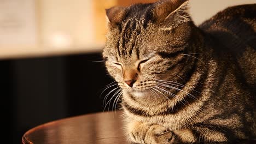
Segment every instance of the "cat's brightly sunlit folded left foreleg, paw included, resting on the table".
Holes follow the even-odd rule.
[[[127,125],[127,132],[135,143],[170,144],[177,141],[172,131],[153,123],[131,122]]]

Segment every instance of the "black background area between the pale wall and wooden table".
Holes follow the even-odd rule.
[[[8,137],[1,143],[21,143],[27,130],[46,122],[103,111],[102,88],[114,80],[95,61],[102,61],[101,52],[0,61]]]

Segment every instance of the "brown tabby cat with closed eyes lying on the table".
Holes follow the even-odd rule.
[[[135,143],[254,139],[256,4],[195,26],[188,1],[106,10],[102,56],[121,88],[124,129]]]

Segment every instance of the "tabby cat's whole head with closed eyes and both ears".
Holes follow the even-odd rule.
[[[113,7],[106,13],[103,58],[109,74],[124,91],[140,97],[148,89],[156,89],[159,81],[177,77],[193,26],[188,1]]]

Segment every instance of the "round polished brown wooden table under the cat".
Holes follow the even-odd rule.
[[[122,131],[121,111],[60,119],[28,130],[24,144],[129,143]]]

